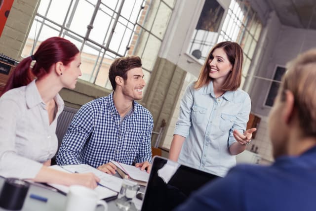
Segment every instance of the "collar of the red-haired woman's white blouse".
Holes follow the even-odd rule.
[[[25,98],[26,98],[26,104],[28,108],[32,108],[34,106],[39,105],[42,103],[45,105],[43,100],[41,99],[40,92],[38,87],[35,84],[36,80],[33,80],[30,84],[28,84],[25,88]],[[64,101],[60,97],[60,95],[57,93],[54,97],[54,100],[58,107],[58,112],[61,112],[64,109]]]

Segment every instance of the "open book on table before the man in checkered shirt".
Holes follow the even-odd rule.
[[[111,161],[116,167],[118,174],[123,178],[128,178],[138,182],[140,185],[146,185],[149,179],[149,173],[146,170],[141,170],[135,166]]]

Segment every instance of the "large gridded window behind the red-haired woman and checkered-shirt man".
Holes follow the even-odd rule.
[[[60,36],[81,52],[81,79],[112,89],[108,69],[120,56],[142,58],[149,82],[175,0],[41,0],[22,57]]]

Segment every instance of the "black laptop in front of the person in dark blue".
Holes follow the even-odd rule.
[[[218,177],[155,156],[141,211],[171,211],[192,192]]]

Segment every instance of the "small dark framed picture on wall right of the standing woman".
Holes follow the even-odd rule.
[[[282,76],[284,75],[286,68],[284,66],[276,65],[273,81],[270,83],[270,88],[266,96],[265,106],[272,107],[276,98],[278,88],[281,84]]]

